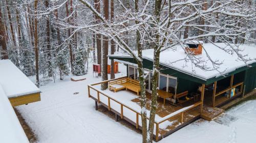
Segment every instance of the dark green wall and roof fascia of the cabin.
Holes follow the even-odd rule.
[[[137,62],[133,58],[129,57],[114,57],[110,56],[110,59],[116,59],[120,61],[125,61],[133,64],[137,64]],[[152,70],[153,69],[153,61],[143,59],[143,68]],[[169,68],[165,65],[160,65],[161,73],[167,74],[170,76],[174,76],[178,78],[178,87],[177,87],[177,93],[183,92],[183,91],[195,91],[201,84],[210,84],[215,81],[221,80],[221,84],[229,85],[228,82],[230,82],[230,76],[234,74],[234,80],[233,84],[243,82],[246,85],[245,87],[245,93],[248,93],[249,91],[256,88],[256,63],[253,63],[249,66],[238,68],[225,76],[219,76],[209,79],[202,79],[196,76],[189,75],[188,73],[184,73],[182,71],[179,71],[177,69]]]

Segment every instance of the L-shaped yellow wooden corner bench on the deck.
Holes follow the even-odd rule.
[[[140,82],[131,78],[122,78],[115,81],[109,82],[109,89],[119,91],[122,89],[131,90],[139,95],[140,93]]]

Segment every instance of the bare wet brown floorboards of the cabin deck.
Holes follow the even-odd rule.
[[[146,108],[148,110],[150,110],[150,105],[151,105],[151,94],[146,93]],[[140,104],[140,97],[135,98],[132,100],[133,102],[137,103],[138,105]],[[169,115],[170,113],[173,113],[183,107],[192,105],[194,103],[196,103],[197,101],[194,100],[190,100],[185,102],[182,105],[177,105],[174,106],[172,104],[170,104],[170,101],[167,101],[165,103],[165,105],[163,105],[163,99],[162,98],[158,98],[157,100],[157,109],[156,109],[156,115],[158,115],[159,117],[165,117],[167,115]],[[204,106],[203,107],[203,113],[200,113],[200,108],[196,107],[194,109],[188,110],[184,113],[184,119],[183,119],[183,124],[187,125],[193,121],[195,121],[198,118],[203,118],[205,120],[211,121],[212,119],[216,118],[217,116],[221,115],[221,113],[223,113],[224,110],[220,109],[220,108],[213,108],[210,106]],[[170,122],[170,125],[165,127],[165,128],[159,128],[159,134],[161,134],[161,136],[165,136],[166,134],[170,134],[172,132],[175,132],[177,129],[183,127],[184,125],[182,125],[182,123],[180,122],[180,117],[179,115],[171,118],[170,120],[168,120]]]

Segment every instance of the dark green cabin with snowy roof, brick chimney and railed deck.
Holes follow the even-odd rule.
[[[218,45],[225,46],[223,43]],[[212,70],[203,70],[193,65],[186,57],[194,53],[184,52],[181,47],[177,47],[176,51],[167,49],[160,54],[159,97],[154,124],[156,141],[199,118],[208,121],[215,119],[224,112],[218,107],[256,88],[256,47],[240,47],[244,48],[244,53],[248,53],[248,58],[254,59],[247,62],[247,66],[243,61],[238,61],[236,55],[230,55],[212,44],[203,46],[212,59],[223,61],[218,71],[207,63],[209,61],[204,51],[194,56],[203,60],[202,64]],[[152,93],[152,53],[153,49],[143,50],[147,110],[150,110]],[[101,104],[115,113],[116,121],[124,119],[141,129],[136,60],[127,54],[109,55],[109,59],[125,64],[127,75],[88,85],[88,96],[95,100],[96,110],[98,104]],[[190,63],[185,64],[184,59]],[[109,83],[109,90],[100,90],[103,82]]]

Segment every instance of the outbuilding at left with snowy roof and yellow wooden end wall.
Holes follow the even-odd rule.
[[[40,101],[40,90],[10,60],[0,60],[0,85],[12,106]]]

